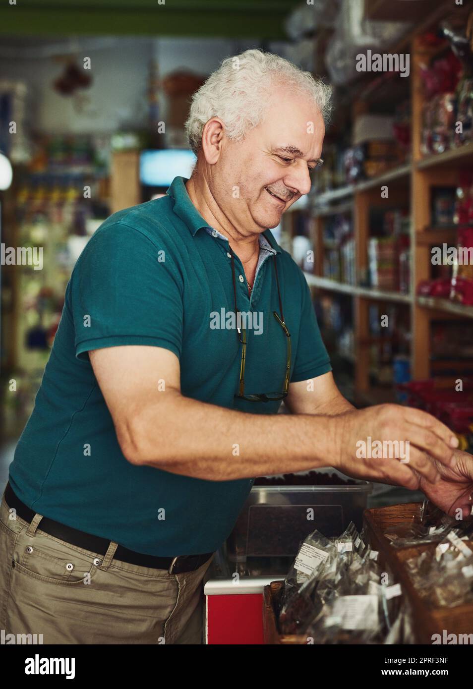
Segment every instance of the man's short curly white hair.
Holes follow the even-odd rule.
[[[201,145],[203,127],[212,117],[221,118],[229,138],[241,140],[261,122],[275,83],[286,84],[292,92],[312,98],[328,122],[332,110],[330,86],[279,55],[245,50],[225,58],[192,96],[185,131],[194,153]]]

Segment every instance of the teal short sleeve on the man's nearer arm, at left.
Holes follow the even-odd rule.
[[[181,356],[183,285],[165,245],[124,223],[99,228],[70,281],[75,354],[152,345]]]

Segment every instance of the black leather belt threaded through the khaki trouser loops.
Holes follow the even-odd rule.
[[[17,511],[17,515],[25,522],[32,521],[34,511],[30,510],[24,502],[21,502],[19,497],[14,494],[10,482],[8,482],[4,500],[8,507],[12,507]],[[77,548],[83,548],[86,551],[92,551],[98,555],[105,555],[110,546],[110,541],[101,536],[94,536],[85,531],[79,531],[77,528],[54,522],[48,517],[43,517],[38,526],[39,531],[44,531],[50,536],[59,538],[61,541],[66,541]],[[144,555],[143,553],[136,553],[129,551],[128,548],[117,546],[114,554],[114,559],[121,560],[121,562],[128,562],[129,564],[137,564],[141,567],[152,567],[156,569],[168,570],[170,574],[180,574],[182,572],[192,572],[198,569],[204,562],[213,555],[213,553],[204,553],[203,555],[179,555],[178,557],[156,557],[155,555]]]

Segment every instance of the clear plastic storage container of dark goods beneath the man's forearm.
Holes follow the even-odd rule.
[[[319,469],[318,473],[335,473]],[[227,539],[230,562],[247,557],[295,557],[305,536],[318,529],[338,536],[354,522],[361,530],[372,484],[348,486],[253,486]]]

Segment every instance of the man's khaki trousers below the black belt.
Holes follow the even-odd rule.
[[[203,578],[77,548],[0,506],[0,630],[43,644],[201,644]],[[9,637],[11,639],[11,637]],[[41,639],[41,637],[37,637]]]

